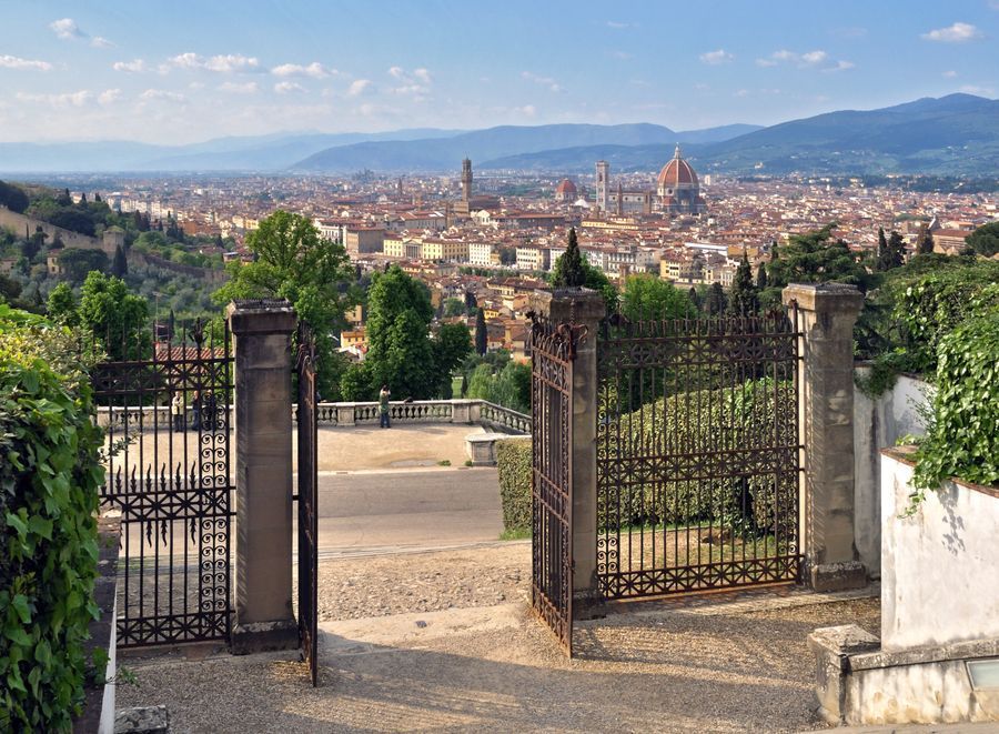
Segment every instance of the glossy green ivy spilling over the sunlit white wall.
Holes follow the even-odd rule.
[[[999,309],[971,319],[940,340],[937,391],[926,440],[917,453],[918,502],[927,489],[956,476],[999,484]]]

